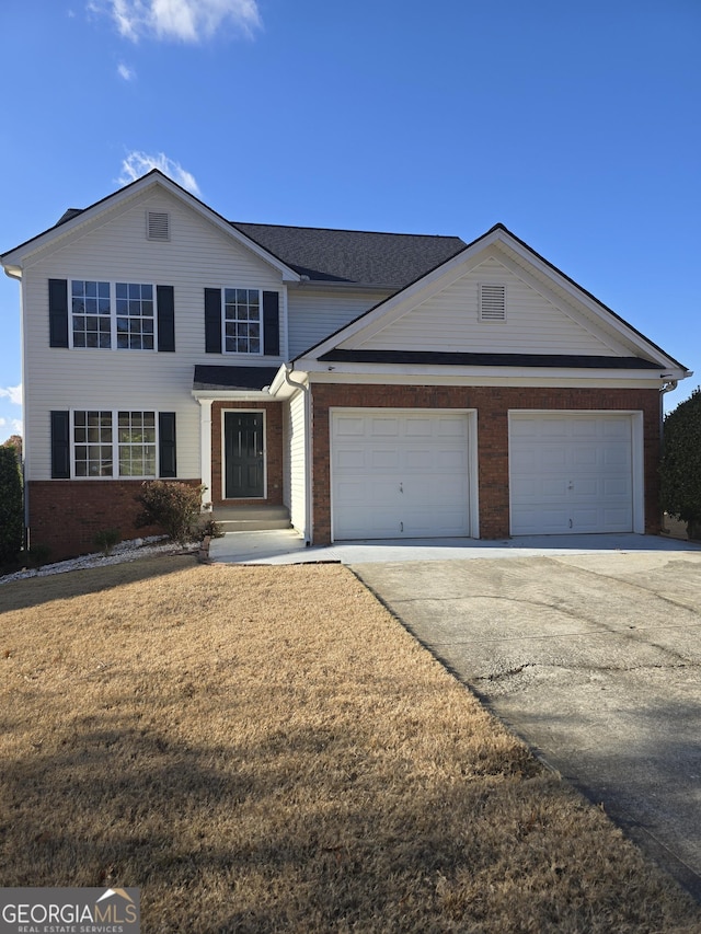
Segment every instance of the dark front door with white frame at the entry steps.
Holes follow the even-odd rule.
[[[264,491],[262,412],[225,412],[227,499],[261,499]]]

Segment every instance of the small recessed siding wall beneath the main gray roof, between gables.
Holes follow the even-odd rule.
[[[378,302],[388,291],[323,291],[295,286],[288,292],[289,356],[295,359],[340,327],[355,321]]]

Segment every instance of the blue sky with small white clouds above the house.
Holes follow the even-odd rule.
[[[701,383],[699,0],[3,4],[0,252],[159,165],[231,220],[497,221]],[[0,279],[0,440],[21,418]]]

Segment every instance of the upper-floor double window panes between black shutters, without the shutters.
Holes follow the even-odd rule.
[[[154,292],[150,284],[73,279],[70,284],[72,346],[156,349]]]

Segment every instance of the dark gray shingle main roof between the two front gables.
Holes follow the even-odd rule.
[[[312,281],[398,289],[440,266],[467,246],[459,237],[238,221],[231,221],[231,226]]]

